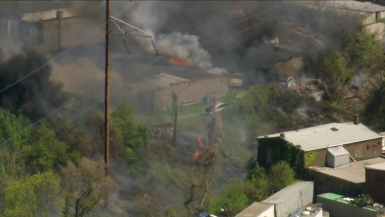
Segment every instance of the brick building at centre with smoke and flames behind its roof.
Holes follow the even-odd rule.
[[[160,73],[127,85],[130,103],[140,111],[163,110],[172,105],[172,92],[177,94],[178,104],[201,102],[206,95],[220,98],[229,92],[227,76],[209,76],[186,79]],[[202,111],[203,112],[203,111]]]

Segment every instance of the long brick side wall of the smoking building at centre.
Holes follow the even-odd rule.
[[[199,78],[159,88],[154,91],[154,109],[169,108],[173,91],[178,95],[178,102],[183,104],[200,102],[207,94],[214,100],[229,92],[229,79],[227,76]]]

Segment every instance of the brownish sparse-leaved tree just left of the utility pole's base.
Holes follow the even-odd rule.
[[[76,166],[69,161],[61,168],[65,217],[81,217],[90,213],[113,187],[113,180],[105,174],[103,161],[81,158]]]

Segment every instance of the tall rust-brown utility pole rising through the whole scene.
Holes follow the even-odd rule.
[[[110,118],[110,74],[109,74],[109,56],[110,56],[110,9],[111,2],[106,0],[106,51],[105,51],[105,91],[104,91],[104,162],[106,164],[105,172],[106,176],[109,175],[109,152],[110,152],[110,128],[109,128],[109,118]],[[107,192],[105,205],[109,206],[109,193]]]

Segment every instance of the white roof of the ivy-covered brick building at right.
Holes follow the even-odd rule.
[[[300,145],[303,151],[312,151],[327,147],[382,138],[363,124],[331,123],[317,127],[305,128],[297,131],[284,132],[285,140]],[[280,134],[258,137],[280,137]]]

